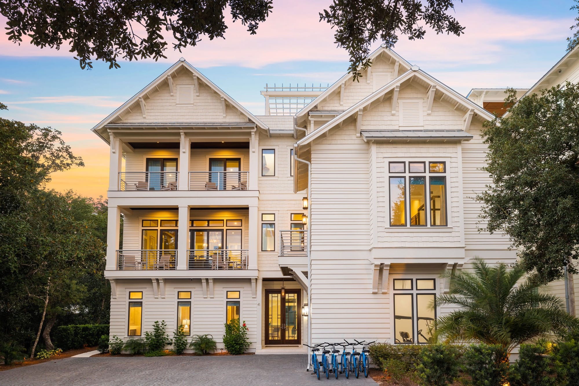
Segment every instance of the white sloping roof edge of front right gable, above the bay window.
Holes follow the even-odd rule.
[[[400,85],[400,83],[402,83],[402,82],[409,81],[415,77],[422,79],[423,81],[429,83],[430,85],[437,86],[437,89],[436,89],[437,92],[440,91],[440,92],[444,93],[447,97],[449,97],[449,99],[456,101],[457,106],[461,105],[465,110],[473,110],[476,114],[478,114],[478,116],[480,116],[484,120],[490,121],[490,120],[494,119],[493,114],[486,111],[478,104],[472,102],[471,100],[468,100],[463,95],[457,93],[455,90],[449,88],[444,83],[438,81],[438,79],[431,77],[431,75],[428,75],[426,72],[420,70],[419,67],[413,66],[413,67],[411,67],[410,70],[408,70],[408,71],[404,72],[404,74],[400,75],[400,77],[398,77],[398,78],[394,79],[393,81],[387,83],[386,85],[382,86],[382,88],[376,90],[375,92],[373,92],[369,96],[365,97],[364,99],[362,99],[358,103],[354,104],[353,106],[348,108],[346,111],[342,112],[342,114],[336,116],[331,121],[320,126],[320,128],[316,129],[313,132],[308,133],[307,136],[303,137],[301,140],[299,140],[297,142],[298,146],[303,145],[303,144],[307,144],[307,143],[311,143],[314,139],[320,137],[321,134],[324,134],[328,130],[334,128],[334,126],[338,125],[340,122],[343,122],[343,121],[345,121],[345,119],[349,118],[350,116],[357,114],[358,110],[360,108],[367,107],[369,104],[371,104],[373,101],[379,99],[384,94],[394,90],[395,86]]]

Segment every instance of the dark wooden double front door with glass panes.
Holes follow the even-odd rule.
[[[301,344],[301,291],[265,291],[265,344]]]

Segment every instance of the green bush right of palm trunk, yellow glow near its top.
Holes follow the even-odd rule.
[[[512,386],[557,386],[556,359],[551,355],[551,343],[522,344],[519,359],[511,366],[509,382]]]

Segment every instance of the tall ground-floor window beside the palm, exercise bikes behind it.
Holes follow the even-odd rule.
[[[394,343],[430,343],[436,309],[435,279],[394,279]]]

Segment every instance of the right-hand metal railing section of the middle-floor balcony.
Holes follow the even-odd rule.
[[[189,249],[188,270],[247,270],[247,249]]]

